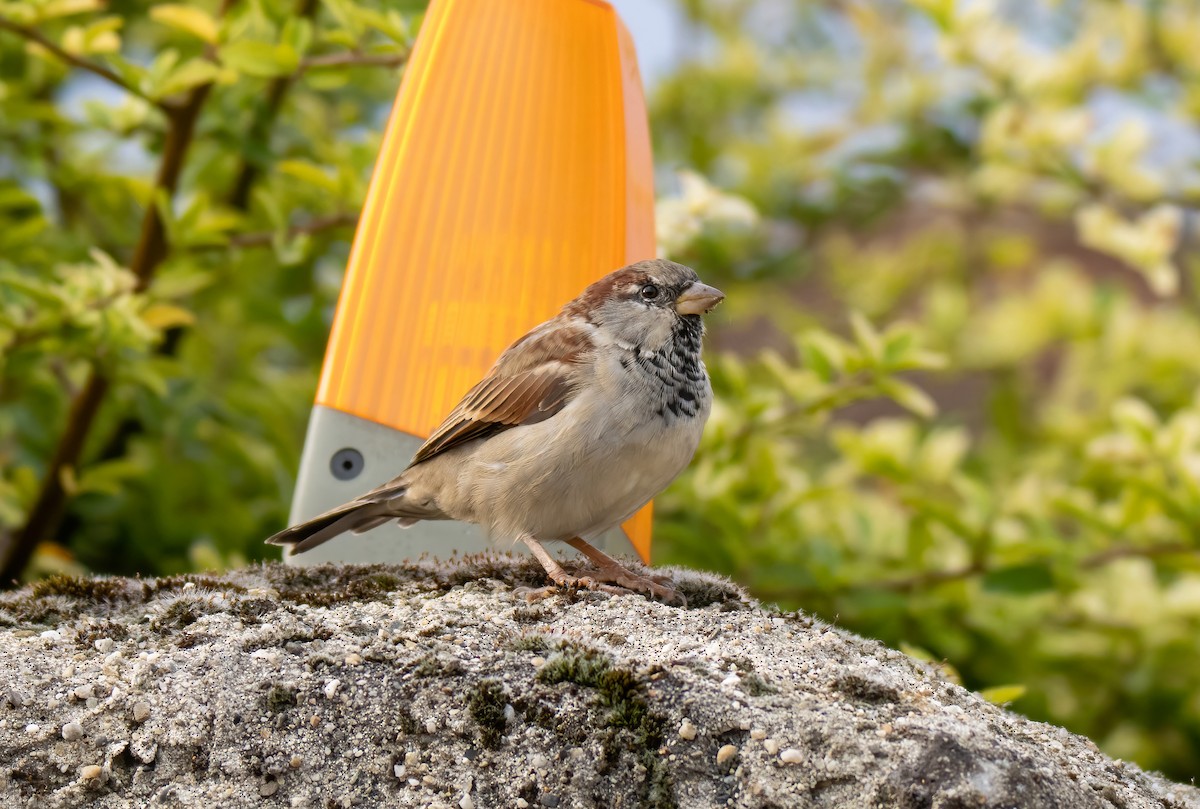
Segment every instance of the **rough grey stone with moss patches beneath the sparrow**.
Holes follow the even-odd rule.
[[[688,609],[529,604],[542,576],[508,557],[2,594],[0,805],[1200,808],[899,652],[676,576]]]

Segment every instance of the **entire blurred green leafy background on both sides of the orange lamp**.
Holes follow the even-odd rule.
[[[656,561],[1194,779],[1200,6],[618,5],[730,293]],[[6,581],[269,556],[421,12],[0,1]]]

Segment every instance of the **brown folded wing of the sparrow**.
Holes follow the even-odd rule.
[[[558,318],[541,324],[500,354],[487,376],[416,450],[409,466],[468,441],[554,415],[575,395],[580,362],[592,344],[582,326]]]

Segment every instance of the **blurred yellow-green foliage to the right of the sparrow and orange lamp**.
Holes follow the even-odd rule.
[[[1200,6],[684,7],[655,157],[758,222],[671,245],[733,289],[659,561],[1194,778]]]

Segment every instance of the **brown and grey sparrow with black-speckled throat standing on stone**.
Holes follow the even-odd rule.
[[[696,451],[713,401],[701,314],[724,298],[662,259],[600,278],[509,346],[397,478],[266,541],[302,553],[389,520],[461,520],[524,543],[559,587],[678,600],[587,540],[632,516]],[[550,540],[596,574],[569,575]]]

